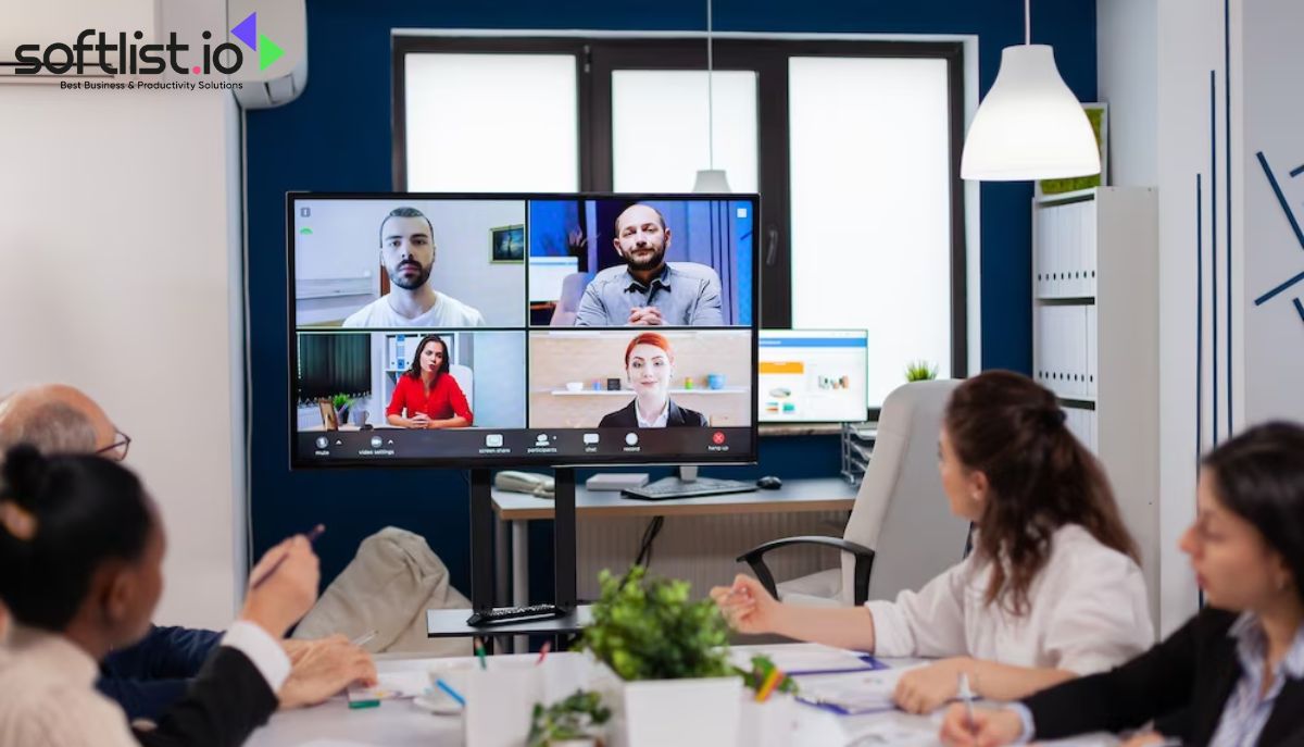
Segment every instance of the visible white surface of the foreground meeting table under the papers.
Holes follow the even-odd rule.
[[[806,644],[789,644],[801,646]],[[751,646],[738,646],[751,648]],[[776,646],[755,646],[760,649],[775,649]],[[533,654],[524,654],[512,658],[531,658]],[[396,671],[426,671],[432,662],[449,660],[385,660],[376,662],[381,673]],[[471,661],[469,657],[464,661]],[[891,661],[891,660],[889,660]],[[901,662],[896,662],[901,663]],[[816,708],[801,705],[798,708],[798,722],[793,733],[793,746],[819,746],[829,744],[855,744],[850,742],[857,734],[878,725],[900,725],[902,731],[911,731],[917,739],[902,742],[902,744],[938,744],[936,722],[940,716],[923,717],[909,716],[900,712],[838,717]],[[297,747],[319,744],[325,747],[364,747],[364,746],[394,746],[394,747],[439,747],[462,744],[460,716],[432,716],[419,709],[411,700],[390,700],[379,708],[349,709],[343,696],[334,697],[316,708],[276,713],[271,721],[257,730],[249,739],[249,747]],[[876,744],[878,742],[863,742],[863,744]],[[1074,740],[1073,744],[1082,747],[1098,747],[1115,744],[1116,740],[1108,737],[1097,737]],[[1067,744],[1067,743],[1065,743]]]

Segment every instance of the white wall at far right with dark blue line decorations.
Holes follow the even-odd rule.
[[[1176,545],[1194,518],[1196,464],[1213,445],[1214,431],[1224,440],[1228,431],[1249,422],[1304,419],[1299,396],[1304,320],[1292,306],[1294,298],[1304,296],[1304,287],[1253,306],[1254,296],[1304,269],[1301,247],[1254,157],[1265,151],[1284,182],[1296,218],[1304,217],[1304,183],[1288,176],[1304,163],[1304,102],[1297,95],[1304,5],[1296,0],[1099,0],[1097,10],[1099,86],[1111,103],[1116,183],[1153,179],[1159,185],[1158,542],[1161,628],[1168,632],[1198,603],[1188,562]],[[1202,262],[1197,264],[1197,256]],[[1198,366],[1197,355],[1202,357]]]

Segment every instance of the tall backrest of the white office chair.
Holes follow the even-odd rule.
[[[914,381],[883,402],[874,454],[844,538],[874,550],[870,599],[918,589],[964,556],[969,522],[951,513],[938,473],[941,414],[958,381]],[[842,602],[852,605],[854,560],[842,556]]]

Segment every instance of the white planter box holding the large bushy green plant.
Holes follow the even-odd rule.
[[[742,678],[625,683],[627,747],[738,744]]]

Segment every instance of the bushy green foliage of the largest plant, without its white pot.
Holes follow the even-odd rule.
[[[579,646],[625,682],[737,674],[729,666],[729,627],[711,599],[689,601],[689,582],[602,571],[601,598]]]

